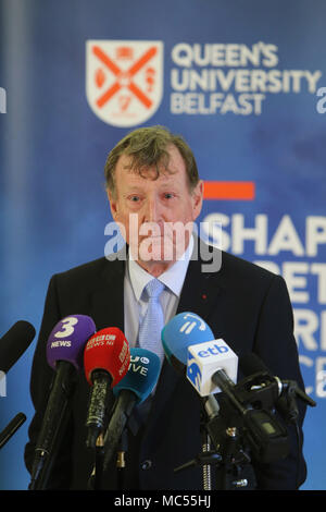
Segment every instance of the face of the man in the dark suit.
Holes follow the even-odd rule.
[[[181,155],[175,146],[168,154],[168,170],[158,179],[155,169],[141,175],[130,170],[130,157],[122,155],[115,197],[109,193],[113,219],[124,228],[131,257],[156,275],[184,254],[202,205],[202,182],[190,192]]]

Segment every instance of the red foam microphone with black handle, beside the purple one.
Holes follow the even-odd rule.
[[[86,419],[87,448],[96,448],[104,428],[109,388],[116,386],[126,375],[129,361],[129,343],[117,327],[98,331],[86,344],[84,368],[92,388]]]

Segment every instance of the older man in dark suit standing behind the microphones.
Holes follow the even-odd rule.
[[[185,141],[160,126],[138,129],[109,154],[105,180],[112,217],[121,227],[126,249],[55,275],[50,281],[32,371],[36,413],[25,451],[29,471],[53,374],[46,362],[46,343],[53,326],[73,313],[89,315],[98,330],[118,327],[135,346],[147,314],[145,289],[150,282],[161,287],[159,302],[165,324],[177,313],[192,312],[239,357],[255,352],[274,375],[303,387],[284,280],[226,253],[216,258],[218,265],[204,270],[208,254],[214,260],[221,253],[210,251],[192,234],[201,211],[203,183]],[[164,359],[161,346],[158,353],[162,369],[155,392],[147,410],[136,410],[128,424],[123,484],[112,461],[103,488],[203,488],[200,465],[174,472],[201,451],[202,402],[184,375]],[[49,488],[87,488],[95,458],[85,444],[88,395],[89,386],[80,375]],[[301,432],[304,406],[299,407]],[[273,463],[253,458],[253,471],[250,464],[248,473],[251,488],[297,489],[304,481],[301,442],[294,428],[288,428],[289,455]],[[216,467],[213,488],[226,488],[227,478],[234,478],[226,470]]]

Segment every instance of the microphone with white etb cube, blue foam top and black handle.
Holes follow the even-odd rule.
[[[175,317],[176,318],[176,317]],[[171,354],[177,353],[178,344],[183,348],[179,357],[185,362],[185,351],[187,352],[186,376],[190,383],[196,388],[203,400],[206,414],[210,418],[206,429],[213,444],[218,449],[221,440],[226,430],[234,435],[238,427],[244,428],[253,453],[263,462],[271,462],[285,456],[288,453],[287,432],[277,424],[274,417],[264,410],[254,410],[252,404],[242,400],[241,393],[238,393],[238,387],[235,385],[238,370],[238,356],[225,343],[223,339],[214,340],[214,337],[208,340],[200,340],[198,343],[197,332],[193,328],[192,343],[184,332],[187,328],[179,328],[179,319],[174,320],[176,329],[171,329],[168,339],[165,334],[164,350],[168,345],[170,361],[177,368],[180,367],[180,361],[175,365],[175,358]],[[204,321],[202,319],[202,326]],[[174,326],[172,326],[174,327]],[[203,327],[198,334],[206,332]],[[163,337],[163,334],[162,334]],[[184,337],[180,339],[180,337]],[[196,340],[197,338],[197,340]],[[218,397],[218,403],[214,393],[223,391]],[[223,426],[223,427],[222,427]],[[231,428],[227,428],[231,427]]]

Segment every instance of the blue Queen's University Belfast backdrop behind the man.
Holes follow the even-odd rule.
[[[217,243],[288,283],[306,389],[303,489],[325,489],[326,87],[322,0],[0,1],[0,336],[39,330],[52,273],[100,257],[109,150],[163,124],[192,147]],[[211,182],[226,182],[214,187]],[[220,184],[221,185],[221,184]],[[224,191],[221,195],[218,191]],[[0,488],[26,489],[36,340],[7,376]]]

